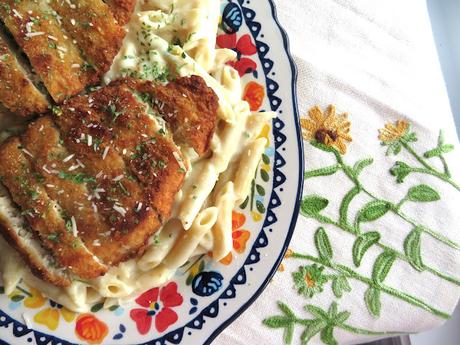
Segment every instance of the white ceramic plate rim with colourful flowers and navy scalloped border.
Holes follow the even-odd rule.
[[[302,189],[296,71],[272,1],[222,1],[221,28],[218,45],[238,52],[244,99],[254,111],[279,114],[261,134],[270,144],[250,197],[233,213],[232,253],[220,262],[199,257],[131,304],[110,310],[97,304],[81,315],[25,284],[9,296],[0,288],[0,343],[209,344],[269,283],[294,230]]]

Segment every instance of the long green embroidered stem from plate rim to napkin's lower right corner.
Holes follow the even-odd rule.
[[[318,263],[318,264],[321,264],[323,266],[326,266],[330,269],[333,269],[335,270],[336,272],[339,272],[341,274],[344,274],[344,275],[347,275],[347,277],[349,278],[353,278],[355,280],[359,280],[361,281],[362,283],[365,283],[367,285],[369,285],[370,287],[374,286],[375,285],[375,282],[370,279],[370,278],[367,278],[367,277],[364,277],[362,275],[360,275],[359,273],[356,273],[355,271],[353,271],[351,268],[347,267],[347,266],[344,266],[344,265],[340,265],[340,264],[334,264],[332,262],[323,262],[321,259],[319,258],[316,258],[314,256],[311,256],[311,255],[307,255],[307,254],[298,254],[298,253],[293,253],[291,258],[295,258],[295,259],[304,259],[304,260],[309,260],[311,262],[315,262],[315,263]],[[391,295],[395,298],[398,298],[400,300],[403,300],[409,304],[412,304],[416,307],[419,307],[419,308],[422,308],[426,311],[429,311],[430,313],[440,317],[440,318],[443,318],[443,319],[449,319],[450,318],[450,315],[448,313],[445,313],[443,311],[440,311],[432,306],[430,306],[429,304],[423,302],[422,300],[416,298],[416,297],[413,297],[411,295],[408,295],[406,293],[403,293],[403,292],[400,292],[396,289],[393,289],[391,287],[388,287],[388,286],[385,286],[383,284],[380,284],[379,285],[379,289],[385,293],[387,293],[388,295]]]

